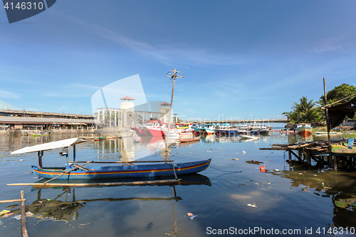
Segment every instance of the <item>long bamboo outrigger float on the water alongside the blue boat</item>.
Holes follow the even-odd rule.
[[[87,183],[87,184],[48,184],[48,183],[24,183],[24,184],[7,184],[8,186],[119,186],[119,185],[140,185],[140,184],[164,184],[175,183],[182,179],[163,179],[151,181],[128,181],[114,183]]]

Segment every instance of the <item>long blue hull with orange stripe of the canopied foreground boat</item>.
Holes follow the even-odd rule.
[[[187,162],[174,164],[177,175],[194,174],[207,169],[211,159],[199,162]],[[33,166],[33,173],[39,177],[53,179],[63,174],[64,170],[44,168],[38,169]],[[89,171],[75,170],[68,174],[63,174],[57,179],[116,179],[125,177],[165,177],[174,176],[172,164],[143,164],[143,165],[122,165],[112,167],[88,167]]]

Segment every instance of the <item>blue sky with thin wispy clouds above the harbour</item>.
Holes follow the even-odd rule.
[[[140,75],[183,119],[282,117],[302,96],[356,85],[356,1],[57,1],[11,23],[0,9],[0,100],[91,114],[91,96]],[[130,96],[130,95],[129,95]]]

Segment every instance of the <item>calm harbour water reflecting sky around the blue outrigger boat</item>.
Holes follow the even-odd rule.
[[[250,142],[208,136],[201,142],[172,147],[176,162],[212,159],[209,169],[184,177],[180,185],[71,189],[6,186],[40,180],[30,173],[31,165],[38,164],[36,154],[9,152],[66,138],[70,136],[0,137],[0,199],[19,199],[20,191],[24,191],[26,211],[34,215],[26,218],[29,236],[229,236],[239,235],[239,230],[246,233],[248,228],[256,228],[256,236],[267,236],[272,228],[273,233],[276,229],[299,229],[294,236],[310,236],[305,228],[313,236],[324,235],[316,232],[318,228],[321,232],[339,228],[335,235],[327,236],[352,236],[350,231],[355,232],[355,174],[290,167],[283,151],[258,149],[298,139],[278,132]],[[77,160],[161,159],[162,147],[159,141],[134,143],[131,138],[125,138],[125,142],[89,140],[77,145]],[[43,166],[63,165],[58,152],[45,152]],[[266,172],[260,172],[258,164],[248,164],[249,160],[263,162]],[[21,221],[13,218],[19,214],[16,204],[0,204],[0,211],[17,211],[0,218],[0,236],[21,236]],[[189,219],[188,213],[197,218]],[[218,235],[224,229],[230,232]]]

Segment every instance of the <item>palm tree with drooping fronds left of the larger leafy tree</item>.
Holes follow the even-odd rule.
[[[294,102],[292,111],[283,112],[282,115],[286,115],[290,122],[313,122],[320,120],[320,111],[316,107],[316,102],[303,96],[299,99],[299,103]]]

